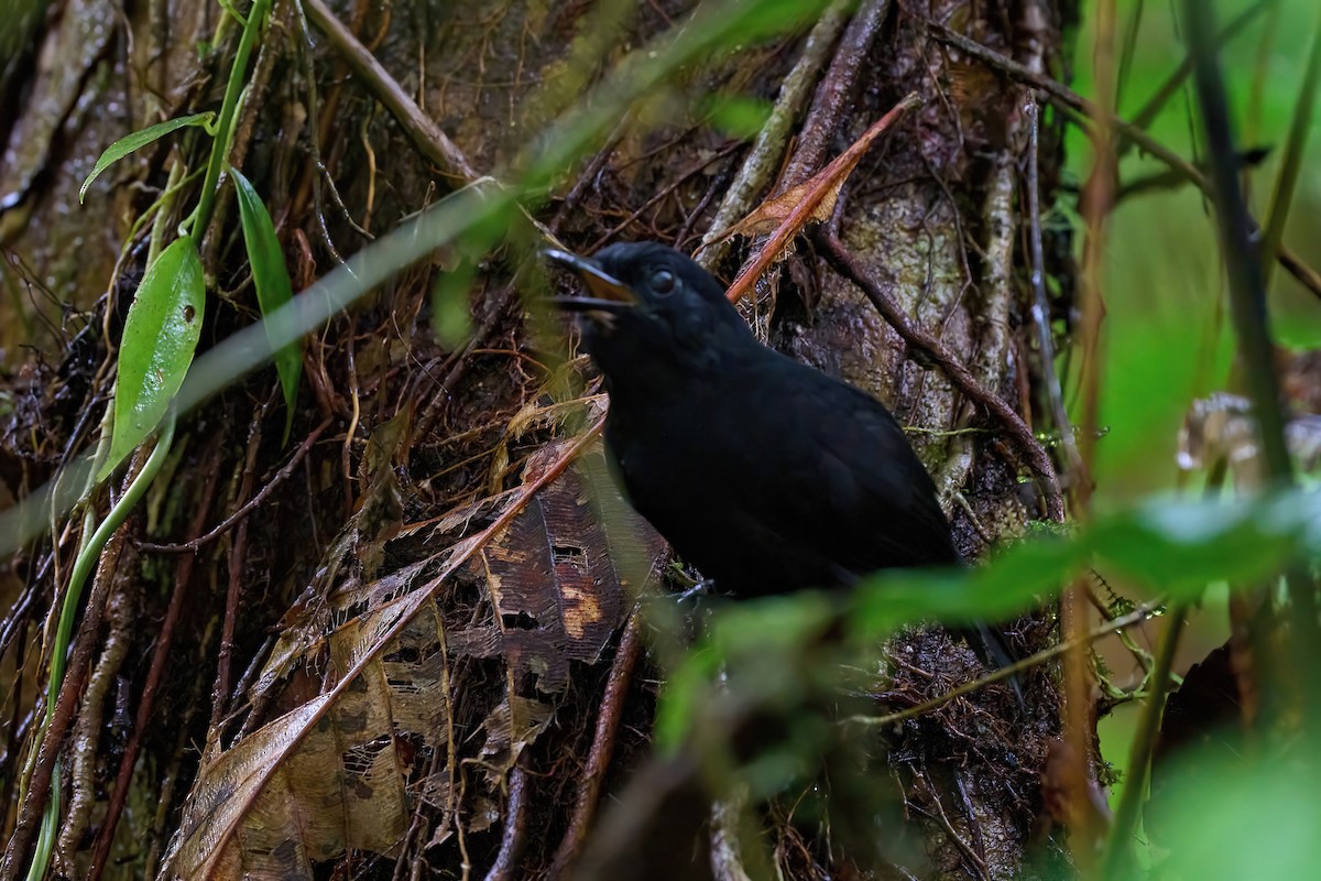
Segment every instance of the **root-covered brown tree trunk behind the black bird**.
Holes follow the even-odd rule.
[[[885,400],[915,429],[960,549],[975,557],[1029,519],[1058,515],[1058,501],[1040,479],[1024,493],[1033,483],[1020,477],[1040,478],[1032,456],[1044,453],[978,400],[1003,402],[1032,425],[1042,365],[1029,342],[1028,92],[941,37],[947,28],[1030,70],[1061,71],[1073,4],[848,5],[654,85],[592,152],[556,169],[544,203],[527,207],[580,251],[659,239],[692,252],[915,92],[919,107],[865,155],[836,215],[799,238],[742,308],[769,343]],[[639,69],[692,7],[338,4],[332,15],[347,36],[332,38],[318,1],[304,17],[279,0],[230,164],[275,218],[295,291],[468,172],[527,168],[539,155],[531,145],[551,144],[538,137],[563,133],[551,125],[561,114],[594,83]],[[172,234],[196,201],[201,176],[188,174],[206,164],[210,141],[185,129],[140,149],[81,207],[78,186],[111,141],[219,106],[240,30],[221,18],[210,4],[129,4],[122,15],[98,0],[20,17],[29,48],[0,82],[12,120],[0,124],[0,272],[11,295],[0,301],[0,350],[15,402],[0,491],[15,498],[95,446],[114,343],[144,271],[149,226],[135,222],[174,166],[185,185],[166,209]],[[738,140],[729,102],[713,96],[779,99],[790,131]],[[449,140],[403,122],[408,104]],[[1042,206],[1062,157],[1046,122]],[[753,156],[768,173],[745,185]],[[202,240],[202,347],[256,314],[231,192],[221,190]],[[583,390],[585,367],[547,354],[557,330],[534,334],[528,318],[540,313],[523,295],[538,283],[515,275],[518,235],[497,251],[478,232],[400,267],[308,338],[287,444],[268,369],[184,419],[168,479],[122,527],[118,556],[103,555],[85,594],[73,684],[57,700],[67,716],[53,729],[59,750],[37,750],[49,651],[40,610],[59,614],[78,520],[58,540],[29,543],[15,575],[0,576],[11,608],[0,682],[16,696],[0,749],[7,767],[30,762],[37,781],[58,754],[57,870],[519,878],[642,859],[657,877],[732,877],[741,861],[754,877],[775,863],[795,878],[1008,878],[1054,859],[1049,840],[1028,853],[1049,826],[1038,791],[1059,717],[1057,682],[1040,670],[1022,682],[1025,708],[992,686],[884,740],[885,762],[867,773],[901,799],[872,827],[884,839],[875,853],[835,847],[828,824],[807,831],[791,794],[769,806],[694,795],[674,785],[696,774],[684,759],[649,758],[670,637],[633,613],[630,597],[657,580],[649,567],[663,548],[612,495],[590,444],[565,468],[576,431],[604,402],[590,388],[567,392]],[[715,244],[703,259],[729,281],[760,244]],[[1071,267],[1046,269],[1070,289]],[[470,314],[454,322],[465,293]],[[1026,654],[1052,637],[1042,613],[1020,622],[1015,647]],[[939,630],[906,633],[888,654],[893,679],[876,687],[875,715],[984,672]],[[637,779],[650,782],[630,786]],[[32,859],[48,787],[20,799],[13,773],[4,786],[8,878]],[[731,803],[742,820],[721,815]],[[675,839],[657,822],[674,816],[701,820],[696,856],[664,847]],[[740,839],[733,827],[749,822],[764,835]],[[617,829],[634,831],[621,844],[609,840]],[[624,845],[646,855],[602,856]]]

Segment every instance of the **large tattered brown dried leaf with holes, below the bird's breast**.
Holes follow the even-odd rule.
[[[446,781],[419,779],[429,765],[419,753],[446,757],[448,781],[458,774],[448,758],[462,761],[453,732],[472,721],[453,717],[452,658],[502,656],[507,672],[534,670],[543,691],[567,683],[569,660],[598,658],[626,582],[641,584],[663,548],[605,491],[600,454],[565,470],[598,428],[539,450],[523,487],[483,511],[493,522],[481,532],[366,584],[351,567],[337,569],[345,581],[316,604],[322,614],[300,616],[299,635],[281,641],[259,686],[273,693],[281,682],[325,682],[325,693],[229,750],[213,737],[162,878],[312,877],[314,863],[347,849],[391,853],[407,832],[408,793],[457,798]],[[336,544],[337,563],[350,544]],[[478,559],[470,571],[489,573],[493,623],[456,631],[437,594]],[[316,635],[312,621],[337,626]],[[517,626],[527,621],[536,626]],[[482,721],[486,789],[469,783],[466,816],[483,799],[499,803],[503,773],[552,719],[552,703],[515,695],[515,676],[503,679],[509,691]],[[285,699],[295,693],[287,688]]]

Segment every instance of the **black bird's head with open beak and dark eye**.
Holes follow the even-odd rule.
[[[590,259],[546,256],[571,268],[589,296],[555,297],[587,318],[583,341],[608,379],[622,371],[715,370],[754,341],[725,289],[705,269],[657,242],[612,244]]]

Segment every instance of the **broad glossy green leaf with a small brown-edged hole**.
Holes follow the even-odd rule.
[[[128,306],[115,383],[115,433],[98,481],[106,479],[169,409],[193,363],[205,302],[197,246],[192,236],[180,236],[147,268]]]

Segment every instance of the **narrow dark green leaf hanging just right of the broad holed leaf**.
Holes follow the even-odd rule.
[[[247,246],[248,264],[252,267],[252,284],[256,285],[256,301],[266,316],[267,335],[273,333],[272,316],[293,299],[293,285],[289,283],[289,269],[284,263],[284,251],[275,235],[271,214],[256,194],[252,184],[236,168],[230,168],[234,190],[239,197],[239,217],[243,221],[243,244]],[[299,380],[303,378],[303,342],[291,342],[275,353],[275,369],[280,374],[280,387],[284,390],[284,442],[289,441],[293,427],[293,405],[299,400]]]

